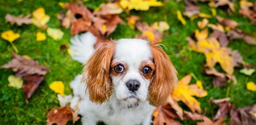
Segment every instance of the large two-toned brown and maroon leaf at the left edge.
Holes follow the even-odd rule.
[[[25,83],[22,88],[27,101],[44,80],[49,68],[40,66],[36,60],[21,57],[15,53],[12,53],[12,56],[13,59],[9,63],[0,66],[0,68],[11,68],[16,77],[23,77]]]

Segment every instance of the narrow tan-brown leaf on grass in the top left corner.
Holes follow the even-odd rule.
[[[15,16],[13,16],[13,15],[11,15],[11,14],[8,13],[8,14],[5,16],[5,20],[6,20],[7,22],[10,22],[11,25],[13,25],[14,23],[16,23],[18,26],[21,26],[23,23],[24,23],[24,24],[31,24],[31,23],[32,23],[32,20],[30,19],[30,16],[31,16],[31,15],[28,14],[28,15],[26,15],[26,16],[23,17],[23,14],[21,14],[21,15],[15,17]]]

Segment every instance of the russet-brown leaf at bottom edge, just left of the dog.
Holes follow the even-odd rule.
[[[51,109],[47,114],[46,125],[52,125],[54,123],[56,123],[57,125],[66,125],[70,119],[73,119],[73,123],[75,123],[75,121],[77,121],[79,117],[67,105],[65,107]]]

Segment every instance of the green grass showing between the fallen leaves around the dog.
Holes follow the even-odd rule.
[[[63,0],[60,0],[63,1]],[[70,0],[72,1],[72,0]],[[63,1],[63,2],[70,2]],[[46,124],[46,115],[52,108],[59,107],[59,102],[56,94],[49,89],[49,84],[55,80],[61,80],[65,84],[65,94],[72,93],[69,83],[74,76],[81,73],[82,66],[80,63],[73,61],[67,50],[61,50],[61,45],[69,45],[69,40],[72,37],[70,30],[60,28],[60,21],[56,15],[63,9],[58,5],[59,0],[0,0],[0,33],[7,30],[13,30],[15,33],[21,34],[21,38],[14,41],[14,44],[19,49],[20,55],[28,55],[33,59],[37,59],[40,64],[50,68],[46,75],[45,81],[41,83],[37,91],[29,99],[29,103],[25,102],[22,89],[14,89],[8,87],[8,76],[14,74],[10,69],[0,69],[0,121],[2,125],[28,125],[28,124]],[[101,0],[89,0],[85,5],[91,9],[96,9],[101,3]],[[103,1],[106,2],[106,1]],[[221,99],[231,97],[231,102],[236,107],[244,107],[256,103],[256,92],[247,91],[245,83],[247,81],[255,81],[256,73],[252,76],[245,76],[239,73],[239,69],[235,69],[234,75],[238,83],[229,84],[223,88],[216,88],[212,85],[212,76],[208,76],[203,72],[203,65],[206,63],[203,54],[192,52],[185,38],[191,35],[197,28],[197,21],[189,21],[183,26],[176,18],[176,11],[183,11],[184,2],[176,3],[174,0],[169,0],[163,7],[152,7],[149,11],[131,11],[131,14],[143,17],[143,21],[153,23],[156,21],[166,21],[170,25],[170,30],[165,32],[162,44],[167,47],[166,52],[170,55],[171,61],[179,72],[179,79],[189,73],[194,73],[195,76],[202,80],[204,88],[208,91],[205,98],[198,98],[201,102],[201,108],[206,110],[206,115],[212,118],[207,102],[210,97]],[[201,11],[210,14],[207,4],[199,4]],[[46,41],[36,41],[36,31],[42,31],[35,25],[10,25],[5,22],[4,16],[7,13],[12,15],[27,15],[37,8],[45,8],[46,14],[51,19],[48,23],[49,27],[60,28],[64,32],[62,40],[54,41],[47,36]],[[224,11],[217,10],[217,14],[223,17],[232,18],[241,25],[239,29],[247,33],[255,33],[256,25],[252,25],[250,21],[238,13],[238,4],[236,3],[236,12],[233,15],[228,15]],[[126,14],[121,14],[122,19],[126,20]],[[216,19],[211,19],[210,23],[216,23]],[[45,31],[42,31],[46,34]],[[119,25],[116,31],[110,35],[113,39],[119,38],[134,38],[138,31],[132,30],[127,24]],[[232,49],[237,49],[244,57],[244,61],[256,66],[256,46],[248,45],[243,40],[234,40],[228,45]],[[0,38],[0,65],[7,63],[12,59],[12,46],[9,42]],[[185,59],[184,59],[185,58]],[[195,80],[192,80],[195,83]],[[229,92],[227,90],[230,90]],[[213,111],[216,113],[218,107],[213,105]],[[183,106],[186,108],[186,106]],[[71,124],[71,122],[69,122]],[[79,122],[77,124],[80,124]],[[185,120],[183,124],[195,124],[195,121]]]

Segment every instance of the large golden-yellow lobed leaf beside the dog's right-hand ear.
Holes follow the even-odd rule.
[[[193,96],[205,97],[207,96],[207,91],[199,89],[196,84],[188,85],[190,80],[191,74],[181,79],[172,94],[172,98],[175,101],[182,101],[185,103],[192,112],[197,111],[198,113],[201,113],[200,102]]]

